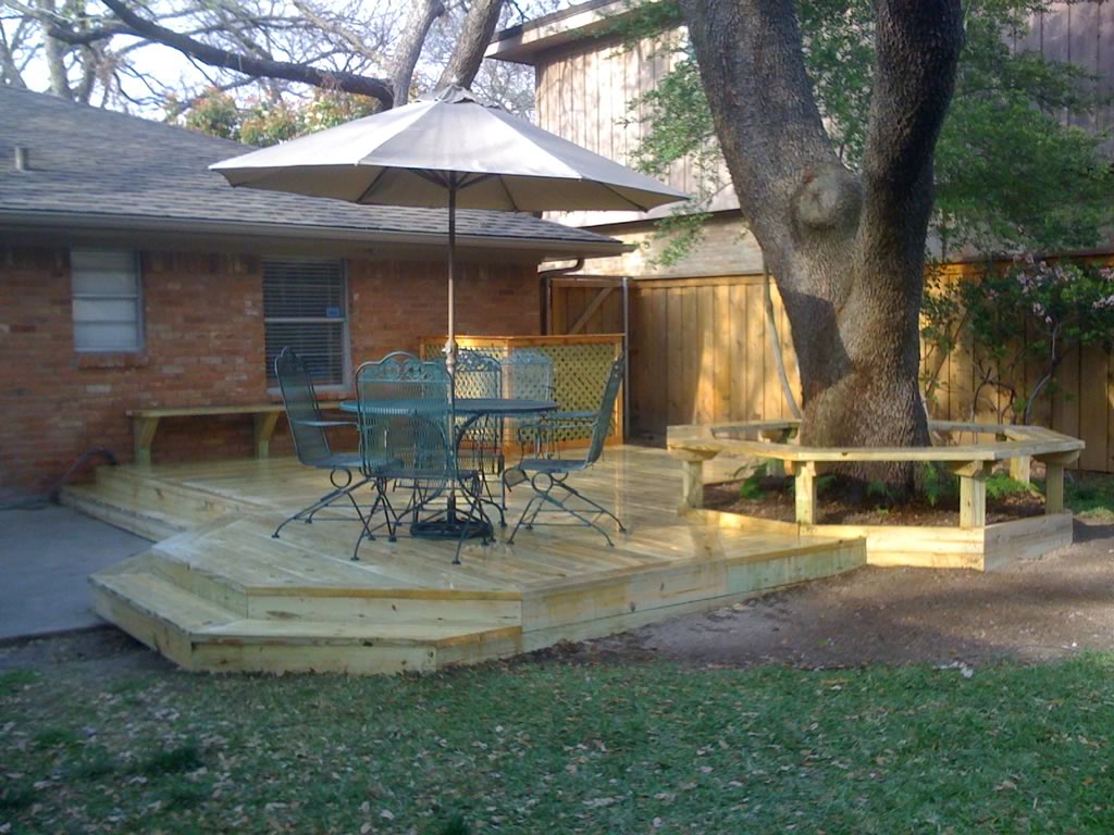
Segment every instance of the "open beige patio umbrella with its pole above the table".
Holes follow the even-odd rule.
[[[449,372],[457,207],[645,212],[686,195],[450,86],[404,107],[209,166],[233,186],[449,209]]]

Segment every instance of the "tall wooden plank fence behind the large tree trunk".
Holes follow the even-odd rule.
[[[599,292],[592,285],[554,282],[554,330],[579,318]],[[761,276],[633,281],[629,287],[633,436],[664,438],[666,426],[681,423],[790,416],[766,333]],[[772,295],[790,384],[799,393],[789,322],[776,287]],[[622,307],[606,304],[582,325],[582,333],[622,328]],[[970,420],[970,345],[958,346],[945,360],[940,382],[932,418]],[[1064,362],[1057,385],[1051,399],[1034,407],[1032,422],[1083,439],[1087,446],[1078,468],[1114,472],[1114,362],[1102,348],[1075,352]],[[997,420],[997,404],[989,396],[980,395],[975,410],[980,422]]]

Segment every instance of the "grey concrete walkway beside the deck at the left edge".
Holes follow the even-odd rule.
[[[0,640],[104,623],[86,578],[149,546],[69,508],[0,511]]]

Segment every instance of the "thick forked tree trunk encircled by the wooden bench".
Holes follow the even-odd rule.
[[[932,151],[962,43],[959,0],[876,2],[861,173],[840,161],[792,0],[681,0],[743,215],[776,277],[801,370],[801,442],[929,443],[918,385]],[[909,483],[910,466],[848,468]]]

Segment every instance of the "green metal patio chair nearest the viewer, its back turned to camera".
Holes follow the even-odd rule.
[[[439,499],[446,500],[443,513],[453,515],[459,499],[467,509],[453,557],[453,563],[459,563],[465,539],[488,523],[479,507],[479,473],[458,468],[452,381],[444,362],[424,362],[413,354],[395,352],[379,362],[361,365],[355,386],[362,472],[374,482],[375,507],[384,510],[388,539],[392,542],[397,539],[398,528],[407,517],[411,520],[411,532],[419,523],[427,524],[428,520],[421,521],[420,515]],[[401,509],[391,502],[392,484],[408,492]],[[374,538],[370,519],[371,514],[364,520],[353,560],[359,559],[363,540]],[[482,530],[487,542],[487,528]]]

